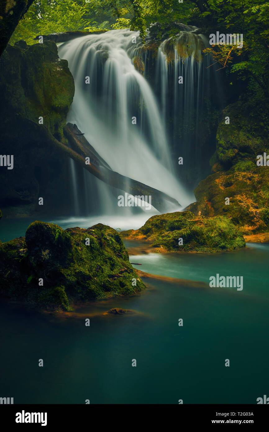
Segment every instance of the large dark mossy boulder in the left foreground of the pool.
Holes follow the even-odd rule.
[[[102,224],[31,223],[25,238],[0,245],[0,278],[0,295],[47,310],[145,288],[117,231]]]

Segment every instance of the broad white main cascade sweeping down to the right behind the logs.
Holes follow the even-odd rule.
[[[134,35],[136,44],[132,43]],[[60,58],[68,60],[75,80],[75,96],[67,121],[85,133],[89,143],[114,171],[165,192],[184,207],[193,201],[193,195],[184,191],[173,173],[157,100],[133,65],[132,59],[140,47],[138,32],[130,30],[88,35],[58,47]],[[86,76],[89,84],[85,84]],[[89,186],[91,175],[87,174],[84,180],[88,180]],[[117,197],[111,194],[109,186],[94,181],[105,204],[102,211],[113,212]],[[89,187],[88,193],[90,199]],[[149,212],[145,213],[146,217],[150,216]]]

